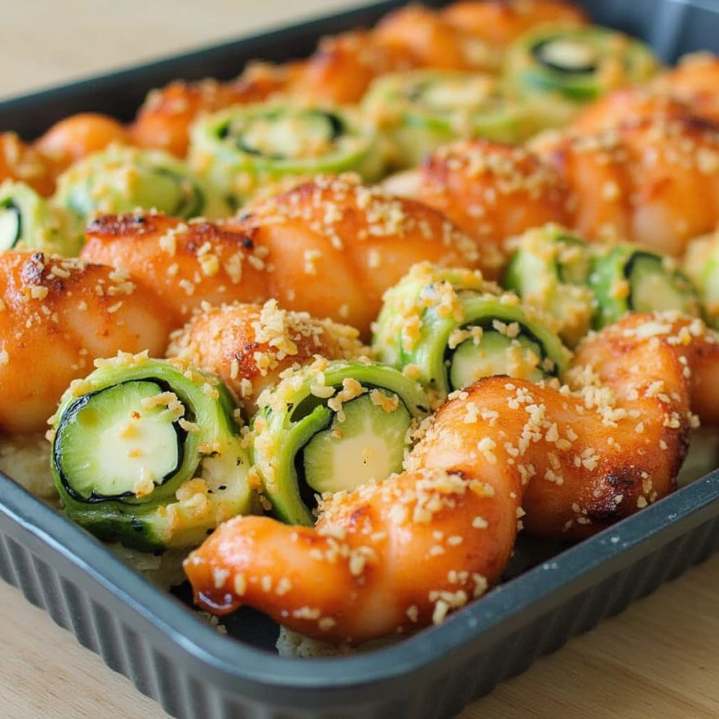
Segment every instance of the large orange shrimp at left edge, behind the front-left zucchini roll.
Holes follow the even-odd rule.
[[[42,252],[0,253],[0,431],[45,428],[60,395],[93,359],[159,357],[170,327],[127,274]]]

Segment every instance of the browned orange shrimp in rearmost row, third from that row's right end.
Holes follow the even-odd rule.
[[[311,101],[352,104],[378,75],[416,65],[404,47],[385,45],[368,32],[347,32],[320,40],[288,91]]]

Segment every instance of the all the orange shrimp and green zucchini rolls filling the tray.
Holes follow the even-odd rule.
[[[0,466],[211,613],[440,623],[719,422],[718,88],[462,0],[4,134]]]

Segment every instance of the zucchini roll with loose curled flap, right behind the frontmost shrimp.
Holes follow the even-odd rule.
[[[254,462],[278,518],[314,523],[315,494],[381,482],[402,463],[429,398],[393,367],[317,359],[260,397]]]

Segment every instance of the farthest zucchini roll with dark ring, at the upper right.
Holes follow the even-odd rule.
[[[658,66],[649,47],[620,32],[550,25],[510,45],[504,74],[508,89],[526,99],[541,129],[567,124],[606,91],[642,83]]]

